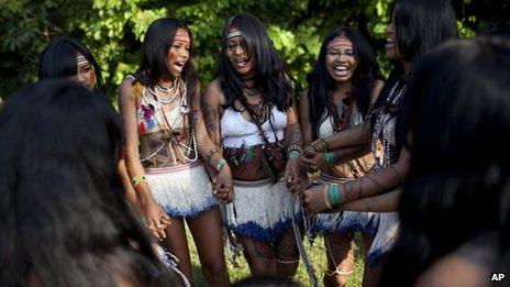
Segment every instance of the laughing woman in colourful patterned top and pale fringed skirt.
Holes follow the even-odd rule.
[[[149,25],[140,68],[119,89],[126,165],[141,201],[158,202],[169,214],[165,243],[179,269],[191,279],[186,219],[209,284],[226,286],[217,206],[218,200],[229,202],[232,177],[203,124],[191,47],[182,22],[163,18]],[[219,169],[214,194],[199,154]],[[151,223],[159,219],[157,210],[147,212]]]

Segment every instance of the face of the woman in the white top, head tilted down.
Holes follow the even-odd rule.
[[[242,78],[250,78],[254,74],[253,57],[250,56],[243,33],[231,29],[226,36],[225,53],[230,65]]]

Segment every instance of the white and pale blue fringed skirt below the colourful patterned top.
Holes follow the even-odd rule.
[[[173,218],[192,218],[218,206],[200,162],[145,169],[151,192]]]

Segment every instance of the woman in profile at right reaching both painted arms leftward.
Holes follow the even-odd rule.
[[[350,201],[367,198],[365,201],[344,206],[345,209],[359,211],[395,211],[399,187],[407,176],[410,153],[401,148],[403,140],[409,136],[403,131],[407,122],[403,104],[410,93],[410,75],[413,64],[430,48],[457,36],[455,13],[446,0],[397,0],[391,7],[391,23],[387,29],[388,43],[386,55],[397,62],[387,85],[381,91],[366,124],[335,134],[318,139],[310,150],[333,150],[370,143],[372,154],[376,159],[374,172],[356,180],[330,186],[319,186],[304,191],[304,205],[312,213],[329,209],[329,206],[345,205]],[[396,126],[400,118],[402,129]],[[382,146],[382,151],[377,148]],[[386,194],[384,194],[386,192]],[[384,195],[381,195],[384,194]],[[325,196],[324,196],[325,195]],[[381,195],[379,197],[373,197]],[[377,205],[375,205],[377,203]],[[379,258],[392,246],[398,231],[395,212],[374,213],[364,224],[369,224],[376,232],[368,251],[368,267],[375,271]],[[370,285],[377,276],[365,276]]]

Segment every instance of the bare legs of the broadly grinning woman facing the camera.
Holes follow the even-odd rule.
[[[354,269],[354,233],[324,235],[328,257],[328,271],[324,274],[324,286],[344,286]]]

